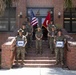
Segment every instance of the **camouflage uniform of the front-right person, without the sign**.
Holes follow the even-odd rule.
[[[55,42],[57,41],[63,41],[65,44],[64,36],[57,36],[55,38]],[[61,62],[63,64],[64,47],[55,47],[55,54],[56,54],[56,63]]]

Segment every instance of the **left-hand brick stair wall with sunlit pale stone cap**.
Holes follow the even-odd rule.
[[[15,57],[15,37],[8,38],[1,47],[1,67],[10,69]]]

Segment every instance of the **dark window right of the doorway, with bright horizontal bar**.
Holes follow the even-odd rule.
[[[64,28],[69,33],[76,33],[76,9],[75,8],[64,11]]]

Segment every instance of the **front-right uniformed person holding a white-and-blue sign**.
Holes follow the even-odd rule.
[[[62,31],[58,30],[57,37],[54,39],[55,43],[55,53],[56,53],[56,65],[61,62],[61,65],[64,65],[63,63],[63,57],[64,57],[64,44],[66,43],[66,40],[64,36],[62,35]]]

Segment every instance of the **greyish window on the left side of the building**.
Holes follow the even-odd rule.
[[[16,8],[6,8],[4,15],[0,17],[0,31],[14,31],[16,24]]]

